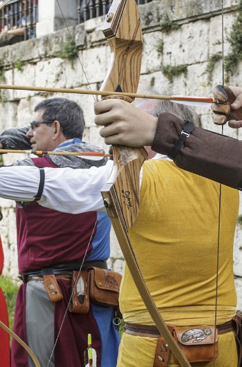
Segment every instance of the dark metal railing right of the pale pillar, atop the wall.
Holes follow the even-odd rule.
[[[136,0],[137,5],[150,3],[153,0]],[[111,6],[112,0],[79,0],[77,6],[78,23],[83,23],[88,19],[106,15]]]

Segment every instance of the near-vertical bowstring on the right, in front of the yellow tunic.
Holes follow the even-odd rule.
[[[223,0],[221,0],[221,35],[222,35],[222,85],[224,87],[225,77],[224,77],[224,7]],[[221,125],[221,135],[223,135],[223,125]],[[215,315],[214,315],[214,326],[216,330],[217,315],[218,315],[218,269],[219,269],[219,250],[220,250],[220,235],[221,235],[221,201],[222,201],[222,185],[219,184],[219,194],[218,194],[218,238],[216,246],[216,290],[215,290]],[[215,366],[215,348],[216,348],[216,332],[214,332],[214,366]]]

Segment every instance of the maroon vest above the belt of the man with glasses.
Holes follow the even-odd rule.
[[[33,158],[32,161],[37,167],[58,168],[48,158]],[[41,207],[34,201],[23,209],[17,207],[16,218],[19,272],[24,272],[82,261],[97,213],[66,214]],[[90,243],[86,259],[92,249]]]

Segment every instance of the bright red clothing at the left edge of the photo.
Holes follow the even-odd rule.
[[[1,245],[0,237],[0,274],[3,270],[3,247]],[[4,297],[3,291],[0,288],[0,321],[2,321],[6,326],[8,323],[8,308],[6,304],[6,299]],[[8,332],[0,328],[0,361],[1,366],[10,367],[10,337]]]

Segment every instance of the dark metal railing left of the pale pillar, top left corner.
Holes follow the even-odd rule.
[[[12,0],[0,10],[0,30],[23,40],[36,37],[38,0]]]

